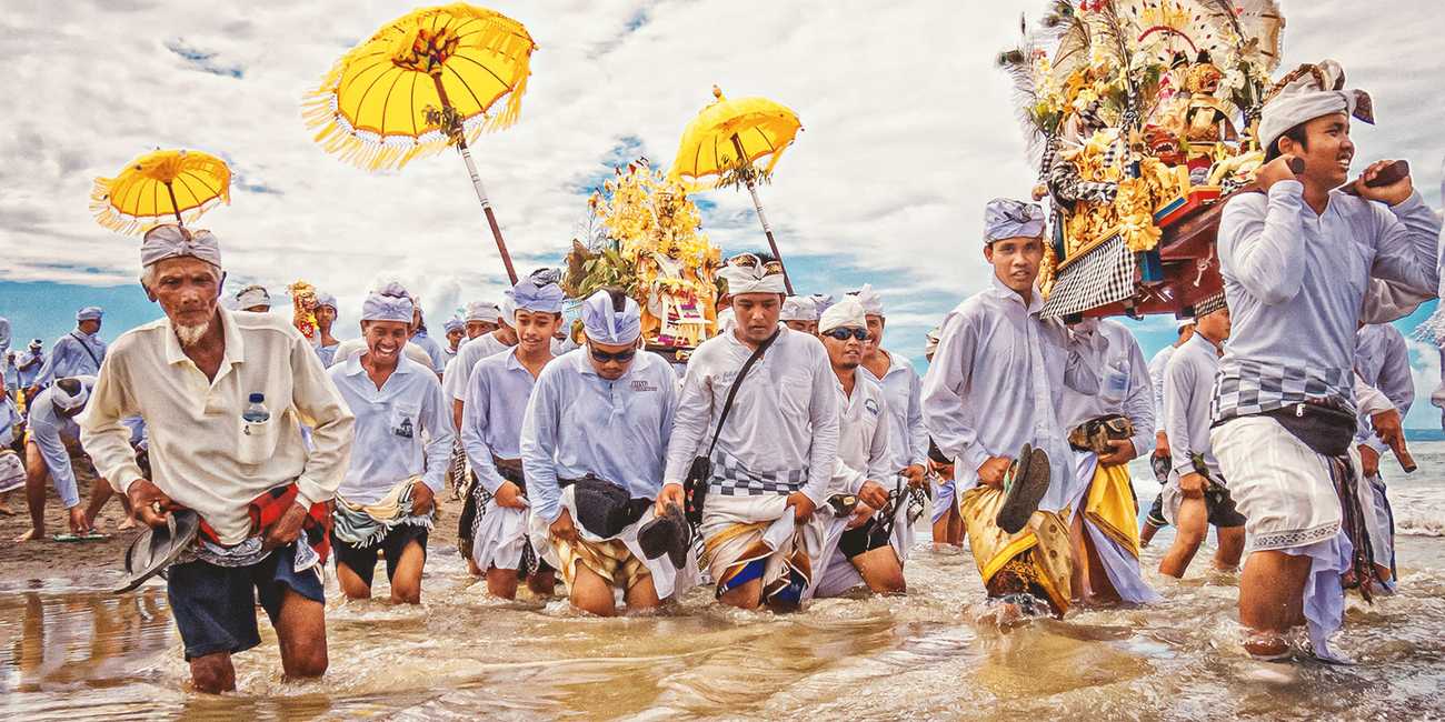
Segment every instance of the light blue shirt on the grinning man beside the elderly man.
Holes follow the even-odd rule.
[[[377,388],[361,358],[327,370],[357,417],[351,464],[337,494],[353,504],[374,504],[412,477],[420,477],[439,494],[455,436],[441,381],[429,368],[402,357]]]

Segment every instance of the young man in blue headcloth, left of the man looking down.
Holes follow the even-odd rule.
[[[471,370],[464,386],[461,427],[467,459],[477,475],[462,511],[460,537],[473,573],[487,576],[487,591],[514,599],[517,582],[538,595],[551,595],[556,575],[536,559],[527,539],[532,514],[522,466],[522,422],[542,368],[552,362],[552,334],[562,322],[562,289],[551,274],[533,273],[512,289],[517,345],[488,355]],[[504,326],[506,328],[506,326]],[[487,342],[483,336],[462,347]],[[462,357],[457,357],[462,361]],[[470,517],[470,518],[468,518]]]

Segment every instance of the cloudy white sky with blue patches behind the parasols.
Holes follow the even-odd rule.
[[[985,283],[984,201],[1032,185],[993,59],[1016,40],[1020,13],[1038,17],[1045,4],[496,0],[539,49],[520,123],[484,136],[474,155],[526,271],[559,261],[614,165],[670,162],[712,84],[780,101],[805,130],[762,193],[798,286],[838,293],[871,280],[890,309],[887,345],[920,357],[923,332]],[[1285,65],[1341,61],[1380,118],[1355,131],[1361,162],[1409,157],[1438,205],[1441,3],[1283,6]],[[104,231],[88,209],[95,176],[155,147],[207,150],[236,172],[231,205],[201,222],[223,240],[231,283],[279,295],[306,279],[347,306],[348,335],[380,277],[419,289],[434,318],[496,297],[504,276],[455,155],[367,173],[322,153],[301,120],[302,94],[334,59],[413,7],[7,0],[0,315],[16,336],[53,338],[87,302],[108,303],[110,338],[155,316],[124,286],[137,240]],[[699,202],[718,245],[764,244],[746,193]],[[1168,328],[1136,325],[1146,354]],[[1428,390],[1438,358],[1415,351]],[[1428,404],[1416,412],[1418,426],[1438,420]]]

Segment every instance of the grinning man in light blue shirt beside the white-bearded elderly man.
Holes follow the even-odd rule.
[[[392,601],[422,601],[432,498],[444,488],[454,432],[436,374],[402,354],[410,321],[410,299],[371,293],[361,306],[367,352],[328,371],[357,419],[331,530],[337,580],[351,599],[371,596],[381,553]]]

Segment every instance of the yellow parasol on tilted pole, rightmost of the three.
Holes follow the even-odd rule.
[[[773,227],[763,214],[763,202],[757,198],[757,182],[766,180],[802,130],[798,114],[767,98],[727,100],[722,91],[712,87],[714,101],[698,113],[682,131],[678,157],[672,162],[672,178],[692,189],[717,188],[722,185],[746,185],[753,195],[753,208],[763,224],[767,245],[773,257],[783,261],[773,240]],[[759,169],[756,165],[766,159]],[[793,293],[793,282],[783,266],[783,282],[788,293]]]

